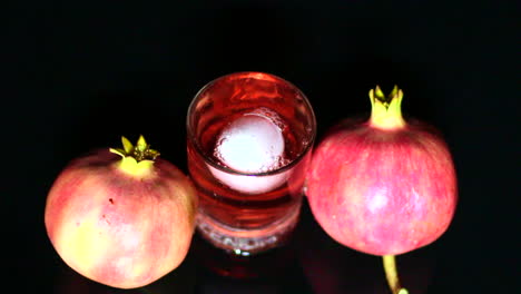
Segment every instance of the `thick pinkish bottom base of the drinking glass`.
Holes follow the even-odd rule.
[[[299,208],[284,219],[258,229],[233,228],[199,212],[197,231],[203,238],[229,254],[249,256],[284,245],[297,224]]]

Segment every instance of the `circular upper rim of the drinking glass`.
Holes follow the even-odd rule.
[[[206,156],[205,153],[203,151],[201,147],[200,147],[199,140],[196,139],[196,136],[193,135],[193,127],[190,125],[190,114],[193,112],[193,109],[195,108],[195,104],[198,100],[198,98],[200,97],[200,95],[205,90],[207,90],[209,87],[212,87],[216,81],[222,80],[224,78],[227,78],[229,76],[239,76],[239,75],[252,75],[252,76],[260,76],[262,75],[262,76],[268,76],[271,78],[275,78],[276,80],[283,81],[284,84],[288,85],[291,88],[295,89],[301,95],[301,97],[303,98],[304,105],[309,110],[311,122],[312,122],[311,124],[312,133],[311,133],[311,136],[309,136],[308,144],[298,154],[298,156],[294,160],[292,160],[289,164],[284,165],[284,166],[282,166],[279,168],[275,168],[275,169],[267,170],[267,171],[262,171],[262,173],[248,173],[248,171],[235,170],[235,169],[232,169],[232,168],[229,168],[227,166],[219,165],[217,161],[215,161],[214,159]],[[267,72],[262,72],[262,71],[236,71],[236,72],[227,74],[227,75],[224,75],[224,76],[220,76],[220,77],[218,77],[216,79],[210,80],[209,82],[207,82],[205,86],[203,86],[197,91],[197,94],[191,99],[190,105],[188,106],[188,110],[187,110],[187,115],[186,115],[186,130],[187,130],[186,135],[187,135],[188,139],[190,140],[191,146],[194,146],[197,154],[204,158],[204,160],[205,160],[205,163],[207,165],[210,165],[213,168],[215,168],[217,170],[220,170],[223,173],[226,173],[226,174],[238,175],[238,176],[262,177],[262,176],[272,176],[272,175],[285,173],[288,169],[292,169],[298,163],[301,163],[301,160],[304,158],[304,156],[307,155],[311,151],[311,149],[313,148],[313,146],[314,146],[315,138],[316,138],[316,118],[315,118],[315,112],[313,111],[313,107],[312,107],[309,100],[307,99],[306,95],[298,87],[296,87],[294,84],[283,79],[283,78],[281,78],[281,77],[278,77],[276,75],[273,75],[273,74],[267,74]]]

